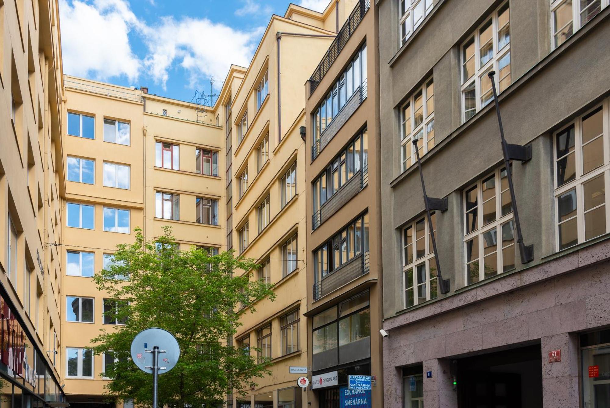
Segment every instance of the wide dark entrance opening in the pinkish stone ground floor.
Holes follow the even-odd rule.
[[[457,360],[460,408],[542,406],[540,345]]]

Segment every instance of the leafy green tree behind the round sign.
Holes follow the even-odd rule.
[[[110,379],[107,395],[151,405],[152,376],[129,359],[131,341],[148,327],[168,330],[180,345],[178,363],[159,377],[160,406],[215,407],[226,393],[253,387],[269,373],[267,362],[257,362],[227,339],[240,326],[240,316],[254,312],[240,309],[242,302],[274,299],[270,285],[250,281],[257,265],[232,252],[180,251],[169,227],[154,242],[135,231],[135,242],[119,245],[113,263],[93,277],[100,291],[120,300],[105,317],[126,322],[91,340],[93,352],[110,362],[104,374]],[[242,276],[243,271],[249,273]],[[113,363],[106,353],[113,353]]]

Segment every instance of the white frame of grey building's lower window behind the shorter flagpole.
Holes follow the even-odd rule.
[[[436,212],[432,212],[430,214],[430,216],[432,217],[432,224],[434,224],[434,233],[436,234]],[[423,239],[424,241],[424,255],[422,255],[422,257],[419,258],[415,258],[415,256],[417,255],[417,225],[420,224],[420,222],[423,222],[424,225],[424,232],[423,232]],[[412,233],[412,242],[410,244],[407,244],[406,241],[406,233],[407,230],[409,230],[409,228],[411,228],[411,231],[413,231]],[[403,304],[404,304],[404,308],[407,307],[412,307],[415,305],[420,304],[419,302],[419,297],[417,296],[417,292],[418,292],[418,287],[419,286],[423,286],[425,285],[425,301],[429,301],[431,299],[436,299],[436,297],[438,297],[438,291],[439,291],[439,284],[438,284],[438,275],[431,277],[431,272],[432,269],[434,271],[436,271],[436,260],[435,260],[435,253],[434,253],[434,249],[432,248],[432,238],[431,238],[431,234],[430,234],[431,230],[430,230],[430,225],[428,224],[428,217],[426,217],[426,214],[424,214],[423,216],[417,217],[413,222],[409,222],[409,224],[405,225],[402,228],[401,231],[401,242],[402,242],[402,250],[403,250]],[[411,253],[413,254],[413,259],[409,262],[409,260],[406,258],[406,250],[408,247],[411,247]],[[426,269],[426,278],[423,282],[418,282],[417,280],[417,267],[424,265],[424,268]],[[412,285],[407,287],[408,284],[408,279],[407,279],[407,272],[409,272],[409,270],[412,271],[412,275],[413,275],[413,282]],[[432,297],[431,294],[431,285],[432,285],[432,281],[436,280],[436,296]],[[408,293],[409,290],[412,292],[412,296],[413,296],[413,304],[410,305],[409,302],[407,301],[407,299],[409,299]]]

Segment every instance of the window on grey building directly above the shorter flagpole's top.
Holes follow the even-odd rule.
[[[428,153],[436,141],[434,139],[434,80],[424,82],[400,110],[400,138],[402,171],[417,161],[413,140],[417,140],[420,156]]]

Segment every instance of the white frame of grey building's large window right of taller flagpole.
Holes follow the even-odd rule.
[[[601,107],[601,112],[602,112],[602,117],[603,117],[603,134],[601,136],[602,140],[603,140],[603,162],[601,164],[601,166],[589,170],[589,172],[584,173],[584,169],[583,169],[583,143],[582,143],[582,137],[583,137],[583,118],[586,117],[587,115],[591,114],[592,112],[597,111],[598,108]],[[568,181],[567,183],[562,184],[561,186],[558,185],[558,177],[557,177],[557,162],[559,159],[557,157],[557,135],[559,133],[562,133],[562,131],[564,131],[567,128],[570,128],[570,126],[574,126],[574,150],[572,153],[569,154],[573,154],[575,155],[575,169],[576,169],[576,177],[574,180]],[[589,109],[587,112],[585,112],[583,115],[578,116],[577,118],[575,118],[574,120],[572,120],[572,122],[568,123],[565,126],[562,126],[561,129],[559,129],[558,131],[553,133],[553,177],[554,177],[554,202],[555,202],[555,208],[556,208],[556,216],[554,219],[554,228],[555,228],[555,245],[557,250],[562,250],[560,247],[560,242],[559,242],[559,224],[564,224],[565,222],[572,220],[574,217],[571,217],[570,219],[564,220],[562,222],[559,222],[559,197],[561,195],[566,194],[567,192],[572,191],[573,189],[576,189],[576,230],[577,230],[577,236],[578,236],[578,243],[577,244],[581,244],[582,242],[586,242],[589,239],[594,239],[596,237],[590,237],[589,239],[586,238],[586,229],[585,229],[585,214],[589,213],[590,211],[593,211],[594,209],[597,209],[598,207],[601,207],[601,205],[596,206],[595,208],[590,208],[587,211],[584,210],[584,184],[587,183],[587,181],[593,180],[594,178],[597,178],[600,175],[603,175],[604,177],[604,186],[605,186],[605,191],[606,191],[606,197],[605,197],[605,206],[606,206],[606,211],[605,211],[605,216],[606,216],[606,232],[610,231],[610,206],[608,205],[608,191],[610,188],[610,153],[609,153],[609,149],[608,147],[610,146],[610,140],[609,140],[609,134],[610,134],[610,98],[606,98],[606,100],[602,101],[601,104],[597,104],[595,105],[595,107],[592,107],[591,109]],[[595,137],[592,140],[589,140],[589,142],[587,142],[585,145],[593,142],[594,140],[597,140],[597,137]],[[567,156],[567,155],[565,155]],[[562,156],[562,157],[565,157]],[[575,244],[575,245],[577,245]],[[566,247],[567,248],[567,247]]]

